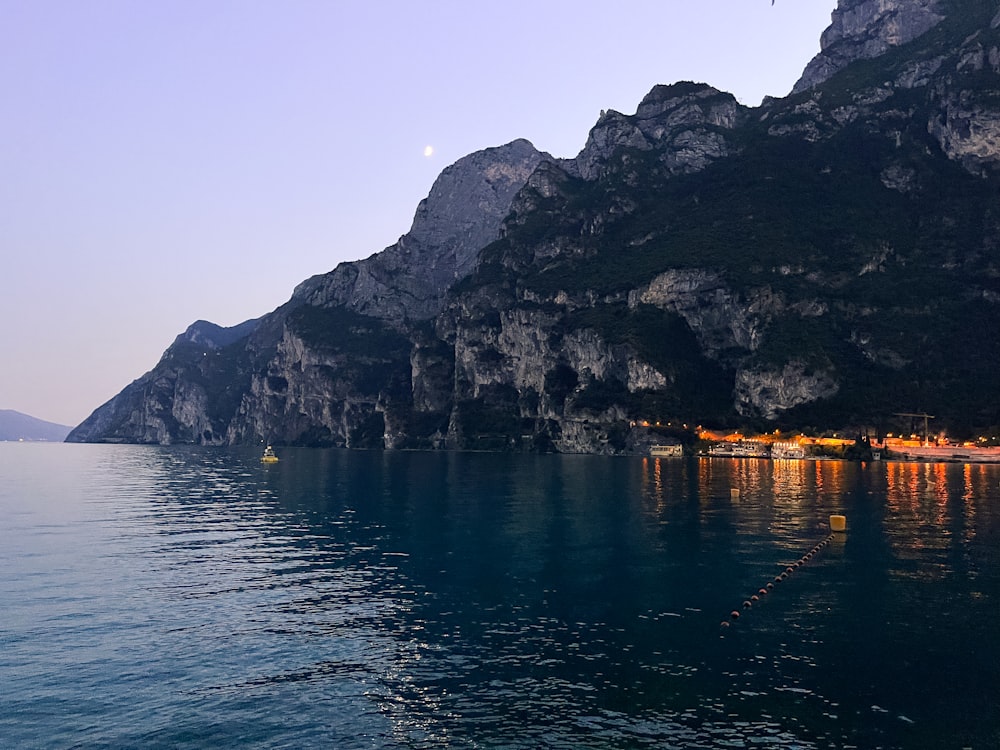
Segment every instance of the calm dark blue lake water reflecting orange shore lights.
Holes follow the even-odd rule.
[[[0,746],[1000,747],[1000,467],[281,456],[0,443]]]

